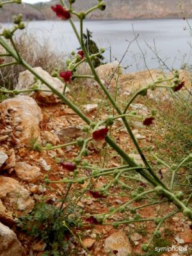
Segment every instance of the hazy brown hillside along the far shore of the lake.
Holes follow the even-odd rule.
[[[106,12],[90,14],[90,19],[158,19],[192,17],[192,0],[106,0]],[[51,11],[51,5],[58,3],[52,0],[48,3],[25,4],[22,7],[24,19],[44,20],[56,19]],[[77,11],[86,10],[97,3],[97,0],[77,0],[74,4]],[[15,13],[21,12],[17,4],[6,6],[0,10],[0,22],[9,21]]]

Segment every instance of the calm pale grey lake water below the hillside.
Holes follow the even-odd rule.
[[[192,24],[192,19],[189,23]],[[78,28],[79,23],[75,24]],[[154,49],[154,43],[159,58],[169,68],[180,68],[184,63],[191,64],[192,36],[189,29],[185,29],[186,25],[186,21],[182,19],[86,20],[84,30],[90,29],[98,46],[106,48],[104,56],[107,61],[120,61],[129,42],[139,35],[138,42],[132,42],[122,61],[127,72],[132,72],[159,67],[157,56],[150,49]],[[69,53],[79,47],[68,21],[33,21],[28,23],[28,30],[35,33],[38,40],[47,40],[55,51]],[[162,62],[161,64],[163,65]]]

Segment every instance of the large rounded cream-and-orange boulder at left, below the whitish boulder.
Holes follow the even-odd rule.
[[[28,96],[18,95],[13,99],[2,102],[4,114],[10,116],[13,127],[22,126],[19,140],[26,145],[31,139],[40,140],[39,124],[42,120],[42,113],[35,100]]]

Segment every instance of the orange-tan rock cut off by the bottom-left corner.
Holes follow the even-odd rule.
[[[24,248],[20,244],[15,233],[0,223],[0,255],[1,256],[25,256]]]

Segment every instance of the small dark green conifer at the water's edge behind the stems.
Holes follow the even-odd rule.
[[[91,39],[92,38],[92,32],[90,32],[88,29],[86,29],[86,34],[83,34],[83,40],[84,40],[84,45],[89,52],[89,54],[95,54],[99,52],[99,48],[97,47],[97,44]],[[104,57],[102,54],[97,55],[92,61],[93,61],[93,66],[95,68],[99,67],[104,60]]]

